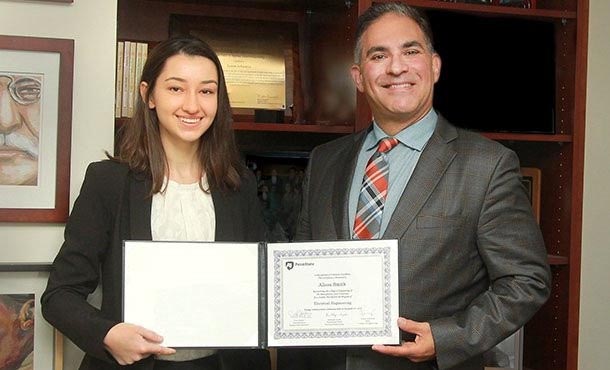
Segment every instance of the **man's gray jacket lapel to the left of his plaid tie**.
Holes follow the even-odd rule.
[[[339,240],[351,238],[352,225],[349,225],[348,217],[349,192],[360,147],[371,128],[372,126],[354,135],[353,141],[338,153],[338,166],[332,191],[332,212]]]

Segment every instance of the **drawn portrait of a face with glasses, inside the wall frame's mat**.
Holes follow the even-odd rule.
[[[36,185],[41,78],[0,72],[0,185]]]

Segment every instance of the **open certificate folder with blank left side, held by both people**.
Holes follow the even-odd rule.
[[[125,241],[123,320],[174,348],[398,344],[398,242]]]

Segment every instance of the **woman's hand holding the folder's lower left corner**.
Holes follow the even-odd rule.
[[[141,326],[120,323],[113,326],[104,346],[120,365],[131,365],[150,355],[172,355],[175,349],[163,347],[163,337]]]

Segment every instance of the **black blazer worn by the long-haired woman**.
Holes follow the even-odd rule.
[[[104,349],[103,340],[121,322],[122,241],[151,240],[148,176],[113,161],[87,168],[80,195],[64,232],[41,298],[42,313],[86,354],[81,369],[123,368]],[[237,191],[213,191],[217,241],[255,242],[265,238],[254,176],[247,174]],[[102,305],[87,302],[101,280]],[[223,369],[267,369],[266,351],[220,351]],[[151,369],[149,357],[132,365]]]

